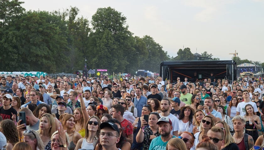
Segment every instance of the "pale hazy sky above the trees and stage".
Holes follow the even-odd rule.
[[[189,47],[213,58],[264,62],[264,0],[21,0],[26,10],[80,9],[91,21],[97,8],[114,8],[127,17],[134,36],[149,35],[170,56]]]

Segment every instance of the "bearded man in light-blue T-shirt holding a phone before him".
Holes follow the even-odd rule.
[[[204,106],[199,105],[197,109],[204,110],[206,115],[211,116],[214,119],[214,122],[216,123],[217,121],[221,121],[222,115],[221,115],[221,113],[219,113],[213,109],[213,105],[214,105],[213,98],[207,97],[204,100]]]

